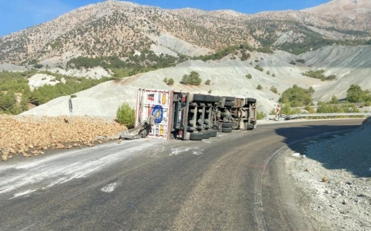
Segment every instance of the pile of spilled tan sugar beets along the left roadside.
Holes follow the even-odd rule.
[[[94,146],[113,139],[125,130],[114,121],[90,117],[22,117],[0,115],[0,155],[7,161],[14,155],[31,157],[45,150]],[[97,139],[97,137],[100,139]]]

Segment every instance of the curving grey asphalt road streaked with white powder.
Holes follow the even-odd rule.
[[[0,163],[0,230],[313,230],[280,151],[360,123],[267,124]]]

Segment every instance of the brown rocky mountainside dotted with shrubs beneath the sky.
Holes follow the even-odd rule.
[[[195,56],[239,44],[299,54],[324,45],[369,43],[370,12],[366,0],[336,0],[306,11],[255,15],[105,1],[1,37],[0,63],[49,61],[51,67],[64,67],[78,56],[124,58],[145,49]]]

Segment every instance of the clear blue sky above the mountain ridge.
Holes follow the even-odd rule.
[[[245,14],[262,11],[302,10],[330,0],[132,0],[164,9],[229,9]],[[0,0],[0,36],[32,27],[102,0]]]

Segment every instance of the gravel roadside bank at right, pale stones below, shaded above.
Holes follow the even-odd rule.
[[[286,157],[302,211],[317,230],[371,230],[371,117],[348,134],[315,140]]]

